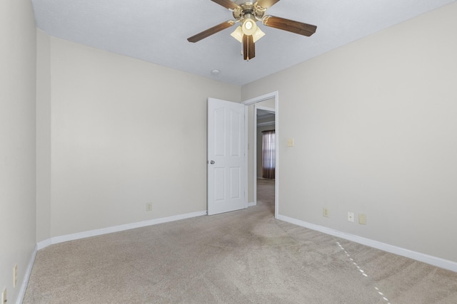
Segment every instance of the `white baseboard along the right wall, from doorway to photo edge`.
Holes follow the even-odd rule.
[[[279,219],[281,221],[287,221],[288,223],[296,224],[298,226],[302,226],[302,227],[305,227],[308,229],[320,231],[320,232],[323,232],[324,234],[330,234],[331,236],[337,236],[338,238],[341,238],[341,239],[346,239],[348,241],[361,243],[363,245],[377,248],[382,251],[394,253],[394,254],[397,254],[398,256],[405,256],[406,258],[412,258],[413,260],[416,260],[416,261],[421,261],[423,263],[428,263],[433,266],[437,266],[437,267],[441,267],[444,269],[448,269],[450,271],[457,272],[457,262],[454,262],[454,261],[448,261],[443,258],[437,258],[436,256],[428,256],[427,254],[424,254],[424,253],[411,251],[409,249],[389,245],[388,243],[373,241],[371,239],[366,239],[361,236],[356,236],[353,234],[346,234],[345,232],[342,232],[342,231],[331,229],[331,228],[328,228],[325,226],[311,224],[306,221],[300,221],[298,219],[293,219],[288,216],[278,215],[277,219]]]

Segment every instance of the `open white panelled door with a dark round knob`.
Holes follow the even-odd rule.
[[[246,105],[208,98],[208,215],[247,208]]]

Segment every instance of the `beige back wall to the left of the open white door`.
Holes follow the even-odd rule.
[[[241,88],[39,39],[42,53],[49,39],[51,66],[51,100],[41,109],[51,113],[50,183],[43,184],[44,197],[51,185],[50,226],[44,204],[39,241],[205,211],[206,99],[240,102]],[[41,127],[46,137],[46,122]]]

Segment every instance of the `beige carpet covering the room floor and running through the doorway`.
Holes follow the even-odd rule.
[[[457,303],[457,273],[273,219],[258,206],[49,246],[24,303]]]

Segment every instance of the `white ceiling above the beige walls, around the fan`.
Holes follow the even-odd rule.
[[[456,0],[281,0],[266,14],[317,26],[311,37],[268,28],[256,58],[243,61],[235,29],[186,39],[231,11],[211,0],[32,0],[36,24],[51,36],[243,85]],[[238,4],[245,1],[236,1]],[[421,31],[418,28],[418,31]],[[219,75],[211,70],[218,69]]]

